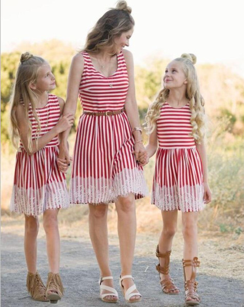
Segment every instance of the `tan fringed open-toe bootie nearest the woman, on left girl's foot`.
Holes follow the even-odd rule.
[[[48,273],[46,297],[50,303],[55,304],[64,295],[64,287],[58,273]]]

